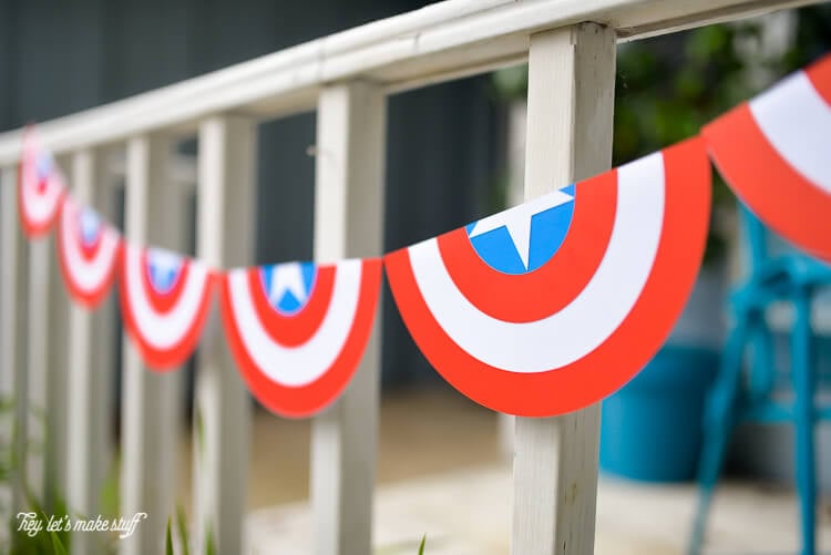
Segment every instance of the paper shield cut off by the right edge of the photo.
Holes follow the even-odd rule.
[[[831,260],[831,56],[728,112],[702,135],[751,212]]]

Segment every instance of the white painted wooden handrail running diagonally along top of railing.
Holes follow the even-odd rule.
[[[365,79],[400,91],[527,56],[529,35],[596,21],[633,39],[812,0],[449,0],[40,125],[55,153],[153,130],[192,132],[216,112],[268,119],[312,110],[332,81]],[[0,135],[0,165],[20,156]]]

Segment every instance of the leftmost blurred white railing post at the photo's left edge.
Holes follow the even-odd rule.
[[[2,439],[12,441],[13,482],[11,494],[3,499],[9,518],[24,507],[20,482],[21,455],[27,438],[27,304],[28,246],[18,219],[18,171],[2,168],[0,174],[0,374],[2,395],[16,403],[12,429],[2,430]],[[7,521],[8,522],[8,521]]]

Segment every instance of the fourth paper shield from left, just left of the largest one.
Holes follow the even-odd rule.
[[[367,347],[381,260],[289,263],[226,274],[223,321],[254,395],[286,417],[335,401]]]

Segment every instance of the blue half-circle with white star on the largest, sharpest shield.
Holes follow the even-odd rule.
[[[574,216],[574,185],[465,227],[476,254],[503,274],[527,274],[551,260]]]

